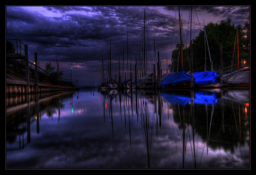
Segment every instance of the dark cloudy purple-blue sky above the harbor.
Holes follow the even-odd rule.
[[[129,62],[132,60],[133,69],[136,59],[139,64],[144,9],[146,36],[151,45],[148,59],[154,59],[155,43],[165,73],[166,61],[179,42],[177,6],[6,6],[6,38],[19,39],[28,45],[31,62],[37,52],[41,68],[50,61],[57,68],[57,59],[59,69],[64,71],[63,78],[70,78],[72,68],[74,83],[78,81],[82,86],[94,82],[96,86],[101,82],[102,57],[108,71],[110,40],[112,71],[118,72],[123,50],[127,59],[127,33]],[[181,6],[180,9],[187,42],[191,7]],[[250,10],[250,6],[194,6],[192,37],[203,30],[203,22],[207,25],[230,18],[235,25],[244,25],[250,22]]]

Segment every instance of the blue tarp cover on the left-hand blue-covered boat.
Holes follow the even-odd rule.
[[[191,81],[191,77],[184,70],[182,70],[177,73],[168,74],[166,78],[161,81],[160,85],[164,87],[167,84],[177,84],[187,81]]]

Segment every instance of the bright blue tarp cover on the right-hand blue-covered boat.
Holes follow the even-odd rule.
[[[215,71],[194,72],[193,77],[195,78],[195,85],[215,84],[220,79],[220,75]]]

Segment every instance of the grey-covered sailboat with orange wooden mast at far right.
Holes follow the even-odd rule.
[[[228,86],[250,86],[250,69],[246,69],[246,71],[239,71],[239,47],[238,47],[238,28],[236,33],[236,39],[237,39],[237,73],[232,75],[232,69],[233,69],[233,62],[232,62],[232,69],[231,69],[231,77],[227,80]],[[236,46],[236,41],[235,41]],[[235,53],[235,48],[234,48]],[[234,60],[234,54],[233,54],[233,60]]]

